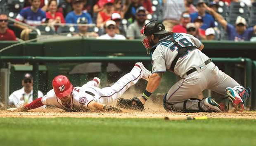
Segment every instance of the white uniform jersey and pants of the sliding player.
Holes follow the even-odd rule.
[[[122,76],[114,85],[106,88],[99,88],[96,81],[89,81],[82,87],[73,88],[70,109],[88,109],[88,104],[94,100],[101,104],[110,104],[132,85],[142,78],[142,70],[139,67],[133,67],[128,74]],[[54,105],[60,109],[69,111],[57,98],[54,90],[50,90],[43,98],[42,103],[45,105]]]

